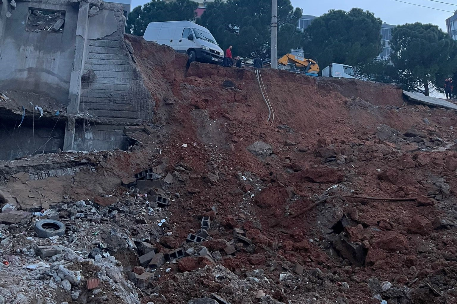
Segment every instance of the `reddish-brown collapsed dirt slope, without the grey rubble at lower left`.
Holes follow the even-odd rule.
[[[187,66],[167,46],[127,39],[156,98],[155,133],[90,156],[97,172],[63,189],[71,201],[117,196],[131,212],[106,231],[189,250],[153,271],[142,303],[457,303],[454,111],[404,105],[393,86],[262,70],[271,123],[252,69]],[[121,186],[148,168],[168,180],[159,213],[144,205],[151,192]],[[115,256],[129,269],[135,254]]]

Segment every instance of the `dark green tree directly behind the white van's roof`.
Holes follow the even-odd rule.
[[[143,36],[149,22],[160,21],[195,21],[197,3],[190,0],[176,0],[166,3],[163,0],[151,0],[143,6],[135,7],[129,14],[125,31]]]

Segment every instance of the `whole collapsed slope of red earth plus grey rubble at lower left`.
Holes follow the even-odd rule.
[[[0,162],[0,304],[457,302],[454,111],[268,70],[267,123],[249,68],[128,39],[137,144]]]

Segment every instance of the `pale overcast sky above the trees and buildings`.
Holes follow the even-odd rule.
[[[433,23],[446,31],[446,18],[453,15],[457,10],[456,0],[437,0],[453,5],[437,3],[431,0],[402,0],[418,5],[430,6],[440,10],[432,10],[425,7],[409,5],[394,0],[291,0],[294,7],[303,9],[305,15],[322,15],[330,9],[350,10],[359,7],[373,12],[388,24],[399,25],[404,23],[422,22]],[[149,0],[132,0],[132,9]]]

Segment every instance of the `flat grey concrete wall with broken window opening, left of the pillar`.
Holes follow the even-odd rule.
[[[63,30],[26,29],[27,24],[30,25],[30,9],[64,12]],[[18,1],[9,17],[6,13],[1,14],[2,89],[51,93],[59,102],[68,103],[78,9],[78,3],[55,5]]]

